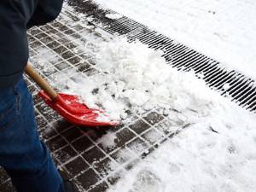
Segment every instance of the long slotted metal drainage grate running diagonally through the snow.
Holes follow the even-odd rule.
[[[125,16],[111,20],[105,15],[115,13],[112,10],[99,9],[91,1],[78,0],[77,2],[79,3],[72,4],[74,9],[84,13],[84,15],[93,16],[94,20],[90,20],[93,25],[111,34],[125,35],[130,42],[139,40],[143,44],[148,44],[149,48],[161,49],[164,52],[163,57],[172,67],[183,71],[194,70],[196,74],[203,75],[202,79],[207,82],[209,87],[218,90],[222,96],[229,96],[231,101],[236,102],[241,107],[256,113],[256,85],[253,79],[248,79],[234,70],[227,71],[218,61],[179,44],[159,32],[150,30],[135,20]],[[81,6],[87,9],[81,9]],[[224,84],[229,84],[229,88],[224,90]]]

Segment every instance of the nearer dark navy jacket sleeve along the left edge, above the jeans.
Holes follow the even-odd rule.
[[[19,4],[20,6],[20,4]],[[0,1],[0,89],[17,83],[28,58],[26,14],[15,1]]]

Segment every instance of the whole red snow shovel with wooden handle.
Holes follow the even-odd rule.
[[[101,116],[106,116],[104,112],[88,108],[81,102],[82,100],[79,96],[57,93],[31,65],[27,64],[25,72],[42,89],[39,91],[38,96],[70,123],[80,126],[119,125],[116,121],[102,122],[97,120]]]

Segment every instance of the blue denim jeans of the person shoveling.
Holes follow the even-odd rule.
[[[60,174],[40,142],[26,82],[0,90],[0,166],[18,192],[64,192]]]

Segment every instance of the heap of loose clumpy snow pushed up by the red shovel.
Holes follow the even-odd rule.
[[[65,85],[63,91],[81,96],[90,108],[104,109],[109,119],[125,119],[127,110],[141,113],[152,108],[204,116],[214,107],[215,93],[205,82],[193,72],[178,72],[166,65],[162,52],[125,38],[96,42],[96,47],[95,68],[101,73],[56,79],[59,86]]]

